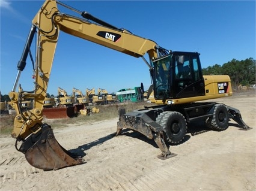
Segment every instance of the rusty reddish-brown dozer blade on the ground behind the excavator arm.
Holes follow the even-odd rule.
[[[63,119],[75,117],[75,107],[43,108],[43,116],[47,119]]]

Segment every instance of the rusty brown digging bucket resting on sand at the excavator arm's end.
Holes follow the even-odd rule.
[[[84,163],[81,156],[70,153],[59,145],[47,124],[42,126],[40,132],[29,137],[21,145],[20,151],[25,153],[30,165],[46,171]]]

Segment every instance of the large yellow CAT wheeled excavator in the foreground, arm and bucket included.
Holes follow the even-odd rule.
[[[81,16],[61,13],[58,6],[68,8]],[[90,13],[76,10],[60,1],[46,0],[32,19],[32,26],[17,64],[17,76],[9,93],[17,116],[11,133],[16,148],[25,154],[35,168],[59,169],[84,162],[81,156],[65,150],[56,141],[50,125],[43,123],[43,101],[46,97],[53,57],[60,32],[88,40],[133,57],[141,57],[150,69],[155,106],[126,113],[119,108],[117,135],[123,128],[133,129],[155,141],[160,148],[160,159],[175,156],[167,143],[179,143],[187,131],[187,124],[203,120],[209,128],[223,131],[233,119],[241,129],[249,129],[240,111],[207,99],[232,95],[228,75],[203,75],[200,54],[171,51],[154,41],[139,37],[130,31],[117,28]],[[35,87],[31,92],[15,92],[26,58],[36,35]],[[148,54],[149,59],[144,55]],[[34,99],[34,108],[22,112],[21,99]],[[17,147],[17,143],[20,147]]]

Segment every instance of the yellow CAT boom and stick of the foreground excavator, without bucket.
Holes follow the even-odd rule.
[[[17,66],[19,70],[18,77],[20,72],[25,68],[29,46],[37,30],[37,57],[35,61],[36,89],[34,93],[25,93],[24,96],[25,98],[34,98],[35,110],[41,110],[43,108],[43,100],[46,96],[60,31],[129,54],[130,56],[142,57],[145,53],[148,53],[151,58],[158,57],[157,47],[159,46],[157,46],[154,41],[130,34],[130,32],[126,30],[121,31],[108,28],[106,26],[97,25],[96,23],[91,23],[86,19],[63,14],[59,12],[57,2],[58,1],[45,1],[32,20],[28,41]],[[84,16],[85,12],[81,12],[81,15]],[[17,105],[17,97],[19,96],[14,92],[17,81],[18,78],[16,78],[14,83],[13,91],[10,92],[13,105]],[[31,112],[34,113],[34,111]],[[17,114],[19,115],[20,112],[18,111]],[[23,131],[20,132],[20,125],[23,126],[22,123],[19,123],[18,126],[14,126],[13,137],[26,138],[31,133],[29,126],[25,125]]]

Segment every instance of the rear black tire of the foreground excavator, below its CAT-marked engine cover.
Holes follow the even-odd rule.
[[[210,120],[210,126],[212,129],[224,131],[228,128],[228,121],[230,120],[228,115],[228,109],[223,104],[216,104],[213,110],[213,117]],[[209,123],[209,122],[208,122]]]

